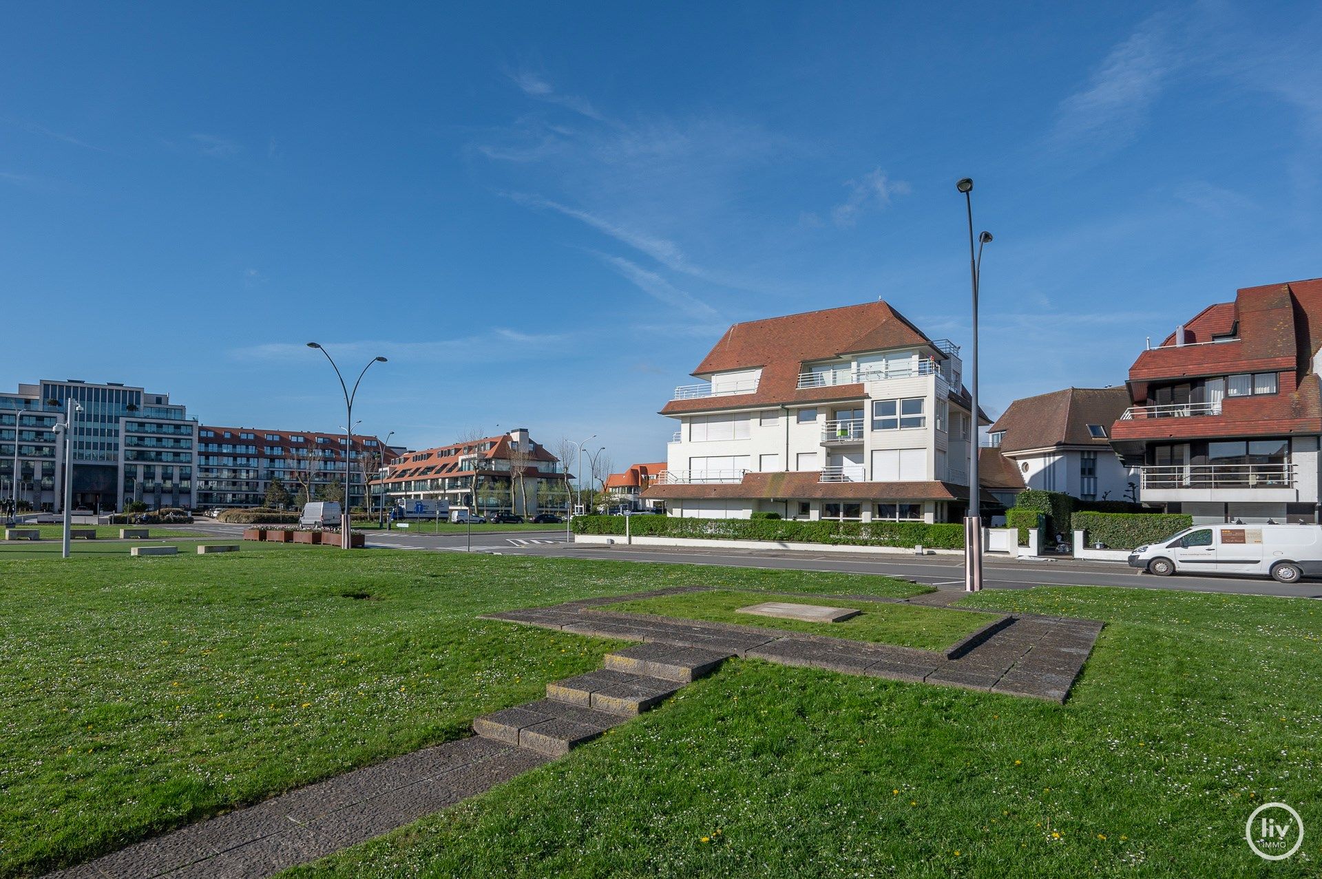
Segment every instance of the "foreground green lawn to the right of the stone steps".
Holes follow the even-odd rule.
[[[1064,706],[735,660],[564,760],[290,875],[1319,874],[1317,603],[1088,587],[964,604],[1108,625]],[[1244,842],[1269,801],[1307,827],[1285,862]]]

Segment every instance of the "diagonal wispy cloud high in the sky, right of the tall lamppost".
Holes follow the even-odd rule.
[[[1060,102],[1048,145],[1097,156],[1130,143],[1182,61],[1169,40],[1167,17],[1149,17],[1110,50],[1081,91]]]

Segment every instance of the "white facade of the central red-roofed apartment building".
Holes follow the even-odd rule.
[[[812,472],[828,485],[968,485],[973,419],[951,397],[961,379],[957,352],[949,344],[923,345],[804,363],[800,389],[862,385],[862,395],[830,402],[739,404],[736,395],[755,391],[761,370],[711,374],[710,390],[678,389],[680,399],[732,399],[728,407],[673,416],[680,430],[668,447],[666,481],[732,484],[750,472]],[[701,518],[748,518],[754,512],[809,519],[939,522],[945,517],[945,502],[939,501],[884,501],[879,506],[876,500],[833,501],[829,489],[825,493],[828,497],[814,498],[669,500],[666,506],[672,516]]]

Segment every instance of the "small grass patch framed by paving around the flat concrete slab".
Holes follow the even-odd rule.
[[[736,608],[760,604],[761,601],[849,607],[859,611],[859,615],[841,623],[802,623],[800,620],[780,620],[735,612]],[[920,650],[943,650],[960,638],[981,629],[994,619],[982,613],[966,613],[962,611],[947,611],[945,608],[912,604],[814,601],[813,599],[795,595],[768,595],[765,592],[736,590],[662,595],[654,599],[637,599],[608,604],[600,609],[624,613],[657,613],[660,616],[705,620],[707,623],[759,625],[769,629],[826,634],[837,638],[853,638],[855,641],[898,644]]]

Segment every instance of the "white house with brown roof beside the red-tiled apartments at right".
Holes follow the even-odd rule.
[[[988,428],[988,444],[1026,488],[1084,501],[1133,501],[1138,468],[1121,463],[1110,447],[1110,426],[1129,402],[1128,387],[1067,387],[1017,399]]]

